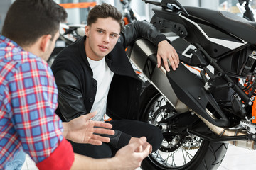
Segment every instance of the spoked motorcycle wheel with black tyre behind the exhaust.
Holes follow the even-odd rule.
[[[142,92],[140,113],[142,121],[159,128],[161,120],[178,114],[152,85]],[[189,133],[169,130],[163,136],[161,147],[144,159],[142,169],[218,169],[228,149],[226,143],[209,142]]]

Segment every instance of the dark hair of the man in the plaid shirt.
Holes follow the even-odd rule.
[[[2,34],[21,46],[36,42],[42,35],[57,33],[68,14],[53,0],[16,0],[6,14]]]

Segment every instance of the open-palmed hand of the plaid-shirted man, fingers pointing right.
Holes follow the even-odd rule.
[[[63,135],[69,140],[77,143],[89,143],[92,145],[102,145],[102,142],[110,142],[109,137],[102,137],[96,134],[114,135],[114,130],[110,130],[112,125],[101,121],[90,120],[96,115],[96,111],[81,115],[78,118],[63,123]]]

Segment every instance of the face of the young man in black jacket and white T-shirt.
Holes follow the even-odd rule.
[[[113,18],[98,18],[96,23],[85,27],[85,51],[91,60],[102,60],[117,43],[120,25]]]

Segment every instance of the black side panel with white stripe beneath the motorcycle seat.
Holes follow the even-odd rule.
[[[153,11],[155,16],[152,18],[151,23],[157,28],[169,29],[176,33],[176,29],[174,29],[174,27],[169,28],[169,25],[171,23],[177,23],[176,26],[178,26],[178,24],[183,25],[186,28],[186,32],[183,31],[184,29],[181,29],[183,27],[178,27],[178,30],[180,29],[183,31],[183,35],[186,35],[184,39],[188,42],[203,45],[206,52],[213,58],[223,56],[227,52],[230,52],[230,50],[236,50],[238,47],[247,44],[247,42],[243,42],[236,36],[200,18],[193,16],[186,17],[183,16],[182,13],[170,13],[161,8],[153,8]],[[178,35],[180,34],[181,33]],[[215,35],[221,36],[216,37]]]

